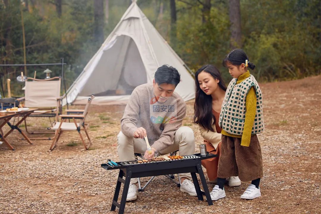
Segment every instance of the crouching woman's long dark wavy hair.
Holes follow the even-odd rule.
[[[198,74],[202,71],[211,74],[214,79],[219,80],[219,87],[226,91],[220,71],[211,64],[204,65],[195,73],[195,104],[193,123],[202,126],[206,130],[214,132],[212,125],[215,124],[215,117],[212,113],[212,96],[206,95],[198,83]],[[213,123],[212,123],[213,120]]]

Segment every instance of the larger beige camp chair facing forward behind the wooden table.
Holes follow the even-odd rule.
[[[28,81],[32,80],[32,81]],[[58,115],[62,112],[62,97],[60,96],[60,77],[53,77],[50,79],[40,80],[34,78],[27,78],[25,87],[25,97],[19,98],[19,101],[24,100],[24,107],[37,108],[30,116],[36,117],[50,117],[54,118],[50,126],[54,126],[58,121]],[[49,127],[50,127],[49,126]],[[46,134],[53,132],[28,132],[27,122],[25,120],[25,129],[28,134]],[[52,138],[30,138],[32,140],[51,140]]]

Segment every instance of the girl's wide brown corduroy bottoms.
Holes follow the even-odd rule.
[[[241,181],[263,177],[261,146],[256,135],[251,136],[250,146],[241,146],[242,138],[222,134],[221,155],[217,176],[239,176]]]

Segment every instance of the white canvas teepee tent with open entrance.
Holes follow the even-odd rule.
[[[94,94],[94,104],[126,102],[136,86],[152,83],[155,71],[163,64],[172,65],[181,74],[175,91],[185,101],[193,99],[194,79],[187,66],[134,0],[68,89],[67,101],[84,104]]]

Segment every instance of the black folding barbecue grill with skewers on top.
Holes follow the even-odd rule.
[[[211,153],[207,153],[206,155],[200,155],[200,153],[198,153],[195,155],[185,155],[185,156],[182,156],[183,157],[182,159],[177,159],[177,160],[151,161],[151,162],[144,162],[144,163],[138,163],[137,160],[123,161],[123,162],[116,162],[116,163],[108,161],[108,163],[101,164],[101,167],[103,167],[106,170],[119,169],[119,175],[117,179],[113,202],[111,205],[111,211],[116,210],[116,207],[118,207],[119,208],[118,213],[119,214],[124,213],[126,197],[127,197],[131,178],[150,177],[150,176],[157,176],[157,175],[169,175],[169,174],[188,173],[188,172],[190,172],[192,175],[198,200],[203,201],[203,195],[205,195],[208,205],[213,205],[210,192],[208,190],[206,180],[204,177],[201,160],[214,158],[217,156],[218,155],[214,155]],[[204,192],[201,191],[200,185],[196,177],[196,173],[198,173],[201,178]],[[125,176],[125,179],[123,179],[123,176]],[[121,183],[124,184],[124,189],[123,189],[120,203],[118,203],[117,201],[118,201]]]

